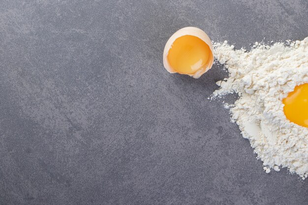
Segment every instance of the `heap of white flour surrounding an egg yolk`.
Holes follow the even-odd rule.
[[[216,84],[219,97],[236,92],[232,120],[249,139],[266,173],[286,167],[305,179],[308,176],[308,128],[290,122],[282,99],[295,86],[308,83],[308,37],[289,46],[255,43],[250,52],[215,43],[215,57],[229,71],[229,78]]]

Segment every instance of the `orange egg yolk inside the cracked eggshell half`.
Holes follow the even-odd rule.
[[[184,35],[177,38],[169,52],[170,66],[180,74],[193,74],[206,66],[212,55],[208,44],[193,35]]]

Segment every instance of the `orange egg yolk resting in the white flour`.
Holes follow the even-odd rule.
[[[284,115],[291,122],[308,127],[308,83],[295,87],[282,102]]]

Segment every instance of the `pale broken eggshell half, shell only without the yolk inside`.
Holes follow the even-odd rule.
[[[200,78],[200,76],[202,74],[204,74],[205,72],[207,72],[208,70],[211,69],[213,62],[214,62],[214,49],[213,49],[213,44],[212,41],[210,39],[210,37],[201,29],[195,28],[195,27],[185,27],[183,29],[178,30],[177,32],[175,32],[167,41],[166,45],[165,45],[165,49],[164,49],[164,53],[163,53],[163,62],[164,62],[164,67],[166,68],[166,70],[169,73],[176,73],[177,71],[175,71],[169,64],[167,56],[168,56],[168,52],[173,44],[173,42],[183,36],[183,35],[193,35],[196,36],[198,38],[200,38],[201,40],[203,40],[206,44],[208,44],[208,46],[210,47],[211,51],[212,51],[212,58],[210,57],[209,59],[209,63],[197,70],[195,73],[193,74],[187,74],[193,78]]]

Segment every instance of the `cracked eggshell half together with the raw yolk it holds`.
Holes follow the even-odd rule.
[[[167,41],[163,53],[164,67],[169,73],[199,78],[212,67],[213,53],[211,39],[203,30],[186,27]]]

